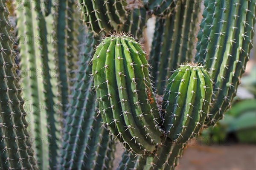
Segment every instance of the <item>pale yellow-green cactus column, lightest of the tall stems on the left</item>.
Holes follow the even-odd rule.
[[[17,3],[24,3],[25,6],[17,10],[17,32],[20,37],[20,68],[21,73],[24,72],[20,83],[30,112],[27,116],[29,132],[34,138],[33,147],[37,150],[38,166],[42,169],[54,168],[57,166],[60,125],[55,99],[57,94],[53,91],[55,88],[52,88],[57,85],[57,81],[51,76],[51,68],[55,63],[50,61],[53,54],[48,52],[47,47],[47,32],[51,27],[47,27],[46,19],[50,16],[44,17],[38,0],[17,0]],[[39,139],[41,143],[38,144],[36,141]]]

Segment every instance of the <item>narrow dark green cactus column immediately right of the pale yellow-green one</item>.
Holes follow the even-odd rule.
[[[59,83],[59,100],[60,100],[60,111],[63,115],[63,118],[66,118],[67,115],[67,106],[69,103],[68,96],[70,95],[71,88],[69,86],[69,70],[68,70],[68,41],[67,41],[67,32],[68,32],[68,2],[65,0],[55,0],[53,2],[54,9],[54,54],[55,60],[57,62],[57,74],[58,74],[58,83]]]

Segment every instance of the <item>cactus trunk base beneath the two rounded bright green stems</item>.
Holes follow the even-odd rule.
[[[162,146],[156,152],[149,155],[133,155],[125,151],[119,163],[118,170],[158,170],[174,169],[178,165],[179,158],[182,156],[185,144],[177,144],[169,138],[165,139]]]

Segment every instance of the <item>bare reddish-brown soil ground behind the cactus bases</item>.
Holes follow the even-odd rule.
[[[114,169],[122,159],[122,147],[117,145]],[[176,170],[256,170],[256,145],[195,145],[189,146]]]

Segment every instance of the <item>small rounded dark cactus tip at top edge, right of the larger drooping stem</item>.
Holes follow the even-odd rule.
[[[149,14],[164,16],[172,12],[177,0],[143,0]]]

